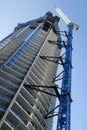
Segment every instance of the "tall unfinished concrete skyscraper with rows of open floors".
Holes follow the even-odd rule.
[[[44,116],[55,105],[54,77],[60,49],[56,33],[59,18],[43,17],[18,24],[0,42],[0,130],[51,130],[52,118]],[[43,87],[46,86],[46,87]],[[44,93],[46,91],[47,93]]]

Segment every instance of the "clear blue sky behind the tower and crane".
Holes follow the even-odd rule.
[[[71,130],[87,128],[87,1],[86,0],[0,0],[0,40],[10,34],[18,23],[43,16],[47,11],[58,15],[57,5],[80,28],[73,32],[72,114]],[[61,19],[60,30],[66,30]],[[56,130],[55,124],[54,129]]]

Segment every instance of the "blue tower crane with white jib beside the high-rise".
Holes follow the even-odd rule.
[[[68,26],[66,54],[65,54],[61,94],[60,94],[58,120],[57,120],[57,130],[70,130],[71,102],[72,102],[71,100],[72,33],[73,29],[78,30],[79,26],[71,22],[57,6],[55,6],[55,10]]]

